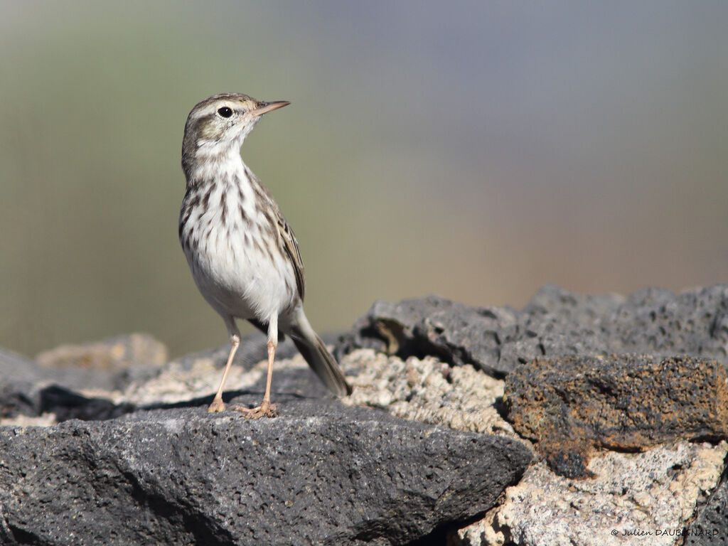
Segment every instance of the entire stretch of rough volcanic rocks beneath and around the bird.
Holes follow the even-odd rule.
[[[261,422],[205,412],[226,346],[162,366],[137,361],[143,373],[125,376],[123,363],[121,369],[90,369],[83,359],[65,358],[65,368],[44,368],[0,351],[0,424],[7,425],[0,427],[0,544],[92,543],[63,534],[70,527],[90,537],[103,533],[99,543],[117,544],[234,544],[253,529],[258,535],[248,543],[269,542],[267,534],[276,533],[288,544],[680,545],[685,535],[676,536],[677,529],[704,529],[708,533],[689,534],[687,543],[724,544],[727,448],[715,445],[722,433],[713,434],[726,408],[723,372],[685,355],[728,364],[727,302],[727,285],[677,295],[647,288],[626,298],[546,286],[521,310],[473,308],[434,296],[379,302],[336,347],[355,387],[344,405],[286,341],[273,377],[273,402],[282,416]],[[577,364],[563,375],[571,396],[559,397],[558,380],[549,383],[545,370],[522,378],[523,404],[543,410],[546,429],[534,427],[533,412],[523,411],[517,427],[503,418],[505,382],[516,382],[519,365],[528,368],[536,358],[564,363],[569,355],[583,365],[609,361],[613,353],[620,354],[610,361],[614,369],[605,364],[590,376]],[[627,353],[649,357],[639,361]],[[238,355],[224,399],[257,404],[264,391],[264,336],[244,339]],[[591,478],[556,475],[537,456],[520,482],[495,498],[496,489],[518,480],[529,438],[539,449],[548,443],[543,430],[586,445],[591,459],[577,463]],[[266,432],[274,443],[261,442],[270,440]],[[431,440],[437,449],[427,451]],[[563,456],[562,462],[568,468],[574,459]],[[492,466],[501,463],[506,470]],[[438,466],[423,477],[427,464]],[[344,472],[352,469],[358,473]],[[258,478],[261,485],[252,492]],[[32,503],[42,497],[44,508],[57,509],[31,521],[25,507],[39,504],[21,510],[20,486]],[[341,500],[347,494],[351,502]],[[68,502],[58,506],[58,496]],[[332,499],[339,499],[335,508],[327,504]],[[483,519],[454,530],[483,510]],[[274,518],[264,518],[268,513]],[[301,542],[285,535],[292,527],[308,529],[307,514],[314,515],[312,532],[319,534],[312,536],[318,538]],[[285,526],[277,526],[280,521]],[[630,528],[644,534],[618,536]]]

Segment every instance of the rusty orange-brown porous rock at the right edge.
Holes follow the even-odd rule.
[[[592,446],[728,439],[726,371],[715,360],[538,358],[508,374],[503,400],[515,430],[569,477],[585,475]]]

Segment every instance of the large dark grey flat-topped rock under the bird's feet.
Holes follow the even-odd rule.
[[[1,542],[407,544],[484,513],[531,458],[507,438],[278,403],[258,421],[199,408],[0,428]]]

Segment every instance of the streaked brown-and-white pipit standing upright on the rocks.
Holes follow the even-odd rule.
[[[224,93],[202,100],[187,117],[182,170],[187,181],[179,237],[202,296],[223,318],[232,345],[208,411],[223,411],[222,393],[240,345],[236,319],[268,334],[266,392],[245,416],[274,416],[270,399],[275,349],[287,334],[336,395],[351,393],[344,373],[304,314],[304,263],[293,230],[272,195],[242,162],[240,147],[263,114],[289,104]]]

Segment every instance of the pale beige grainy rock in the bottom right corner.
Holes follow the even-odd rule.
[[[459,531],[461,544],[681,544],[676,540],[690,525],[697,500],[715,486],[727,451],[725,442],[681,442],[639,454],[608,451],[591,460],[590,480],[561,478],[539,462],[486,519]]]

